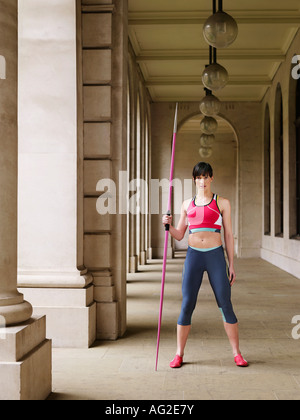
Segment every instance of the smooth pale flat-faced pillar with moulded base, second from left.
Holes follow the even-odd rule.
[[[19,290],[56,347],[96,337],[83,265],[74,0],[19,0]]]

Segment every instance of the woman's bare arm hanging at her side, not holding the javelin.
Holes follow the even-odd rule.
[[[229,277],[231,280],[231,285],[235,282],[236,274],[234,270],[234,238],[232,232],[232,222],[231,222],[231,205],[229,200],[219,197],[219,206],[223,216],[223,227],[224,227],[224,240],[225,240],[225,249],[228,257],[229,263]]]

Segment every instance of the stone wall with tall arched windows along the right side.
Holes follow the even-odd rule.
[[[295,173],[295,150],[296,150],[296,87],[297,82],[292,78],[292,58],[300,54],[300,32],[295,37],[287,55],[285,62],[280,66],[271,88],[261,104],[261,113],[264,116],[266,107],[270,110],[270,219],[271,231],[265,234],[262,229],[262,248],[261,257],[270,263],[288,271],[300,278],[300,241],[295,237],[296,223],[296,173]],[[278,198],[275,191],[277,186],[276,177],[280,171],[278,163],[275,161],[275,126],[278,124],[276,115],[276,91],[280,87],[282,93],[282,112],[283,112],[283,233],[278,234]],[[261,129],[263,136],[265,124]],[[299,140],[298,140],[299,142]],[[264,162],[264,155],[262,156]],[[264,185],[264,178],[262,184]],[[264,207],[267,206],[263,197],[262,217],[264,217]]]

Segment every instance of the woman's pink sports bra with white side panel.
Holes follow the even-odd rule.
[[[196,197],[192,199],[187,209],[190,233],[217,232],[222,229],[222,214],[218,206],[218,196],[213,195],[209,204],[197,206]]]

